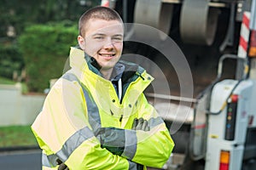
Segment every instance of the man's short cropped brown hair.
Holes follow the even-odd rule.
[[[114,11],[112,8],[97,6],[95,8],[90,8],[84,14],[81,15],[79,19],[79,35],[84,37],[85,27],[88,20],[90,19],[102,19],[102,20],[119,20],[123,23],[120,15]]]

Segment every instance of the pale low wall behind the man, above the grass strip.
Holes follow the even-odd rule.
[[[0,126],[30,125],[44,104],[45,95],[23,95],[21,86],[0,84]]]

